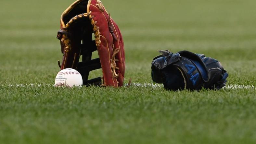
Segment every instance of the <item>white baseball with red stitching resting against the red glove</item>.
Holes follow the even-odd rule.
[[[72,68],[66,68],[58,72],[55,78],[55,87],[82,87],[83,78],[81,74]]]

